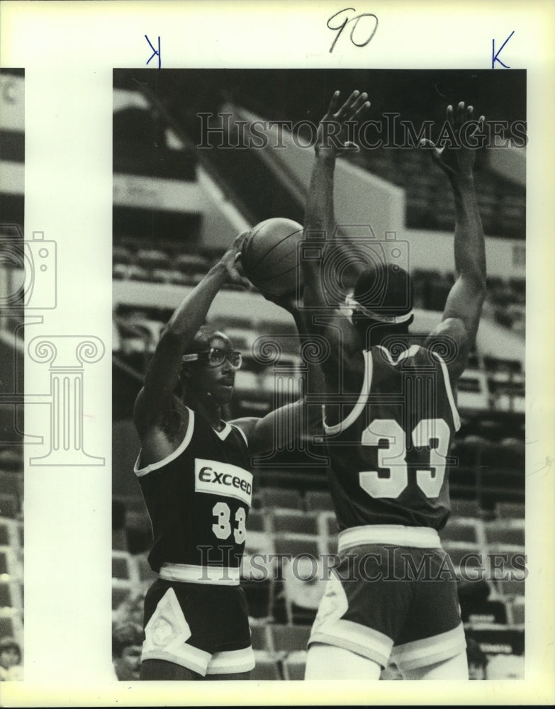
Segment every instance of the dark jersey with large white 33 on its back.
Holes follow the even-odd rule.
[[[360,525],[442,529],[449,515],[447,457],[460,427],[447,367],[414,345],[397,359],[364,352],[357,403],[324,424],[340,531]]]

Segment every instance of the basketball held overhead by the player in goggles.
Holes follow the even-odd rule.
[[[266,219],[250,230],[241,250],[245,275],[262,293],[294,293],[298,278],[298,242],[303,227],[292,219]]]

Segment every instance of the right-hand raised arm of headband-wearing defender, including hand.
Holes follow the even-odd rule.
[[[472,121],[473,107],[459,103],[456,112],[447,107],[447,121],[454,130],[460,147],[433,146],[432,157],[451,182],[455,200],[454,257],[456,280],[447,296],[442,323],[430,333],[427,345],[432,346],[438,337],[449,337],[455,355],[447,358],[449,376],[453,382],[464,372],[469,352],[476,340],[483,300],[486,296],[486,251],[483,229],[474,189],[473,165],[476,148],[464,145],[461,127]],[[476,137],[483,130],[484,117],[476,121]],[[466,131],[468,135],[468,131]]]

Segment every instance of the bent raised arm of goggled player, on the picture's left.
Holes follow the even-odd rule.
[[[226,283],[247,285],[237,269],[237,259],[244,235],[213,266],[208,274],[185,296],[162,330],[155,353],[145,374],[145,384],[135,403],[135,425],[145,430],[164,418],[172,407],[174,391],[179,381],[181,357],[198,329],[203,325],[215,295]]]

